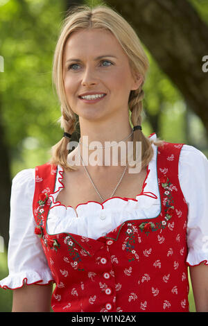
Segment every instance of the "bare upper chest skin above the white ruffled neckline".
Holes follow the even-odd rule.
[[[104,201],[110,198],[113,192],[113,197],[134,199],[141,193],[146,180],[147,169],[141,170],[140,173],[129,173],[127,169],[123,175],[124,169],[125,167],[121,166],[119,170],[107,169],[93,175],[89,173]],[[123,178],[121,179],[122,175]],[[87,203],[87,201],[102,203],[100,196],[92,185],[92,181],[85,169],[83,171],[64,172],[62,179],[64,188],[60,191],[56,200],[60,201],[62,205],[73,207],[73,209],[76,209],[76,206],[81,203]],[[114,191],[115,188],[116,191]]]

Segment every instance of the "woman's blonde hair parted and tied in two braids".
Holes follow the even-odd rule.
[[[132,71],[139,73],[143,80],[139,89],[130,92],[128,105],[130,110],[130,124],[132,126],[141,125],[142,110],[144,98],[144,90],[142,89],[146,79],[149,62],[144,52],[139,37],[134,29],[126,22],[126,20],[119,15],[118,12],[112,10],[103,4],[90,8],[87,5],[76,6],[69,10],[67,17],[62,22],[62,28],[58,37],[58,42],[55,47],[53,57],[53,83],[60,101],[62,116],[58,119],[61,128],[64,132],[70,134],[76,130],[76,114],[71,110],[64,92],[63,81],[63,53],[64,45],[69,39],[71,33],[79,31],[80,29],[94,29],[99,28],[112,32],[116,39],[121,44]],[[152,144],[161,146],[164,141],[157,138],[155,141],[146,137],[141,130],[133,132],[133,157],[135,160],[136,141],[141,141],[141,169],[148,165],[154,155]],[[67,163],[67,145],[69,146],[69,139],[62,137],[57,144],[51,148],[51,164],[60,164],[67,171],[76,170],[75,166],[70,166]]]

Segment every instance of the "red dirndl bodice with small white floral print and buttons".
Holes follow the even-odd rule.
[[[125,221],[96,240],[47,233],[57,166],[35,168],[35,234],[56,283],[53,311],[189,311],[188,207],[177,177],[182,146],[157,149],[160,214]]]

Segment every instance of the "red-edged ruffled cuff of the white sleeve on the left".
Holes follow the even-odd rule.
[[[38,284],[38,285],[46,285],[50,282],[55,282],[53,277],[49,271],[45,271],[43,273],[37,273],[35,271],[22,271],[19,273],[11,273],[3,280],[0,281],[0,287],[2,289],[10,289],[15,290],[19,289],[24,284]]]

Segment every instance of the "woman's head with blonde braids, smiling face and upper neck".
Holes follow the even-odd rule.
[[[92,11],[86,6],[71,10],[64,19],[53,59],[53,82],[61,103],[59,121],[64,131],[73,133],[78,114],[81,139],[87,135],[89,143],[98,140],[102,144],[123,139],[131,131],[129,113],[131,124],[141,125],[147,70],[148,58],[139,37],[121,15],[107,6]],[[68,141],[63,138],[53,146],[50,162],[75,171],[78,168],[67,162]],[[135,161],[136,142],[141,141],[141,169],[153,157],[151,144],[163,144],[144,136],[139,129],[129,141],[133,141]]]

